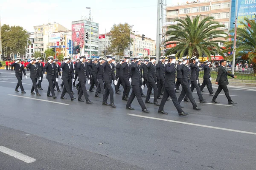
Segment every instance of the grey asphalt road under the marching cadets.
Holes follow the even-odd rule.
[[[189,113],[182,117],[172,101],[164,109],[169,114],[162,115],[152,104],[146,104],[151,113],[142,113],[136,99],[135,110],[126,110],[117,94],[117,108],[102,106],[102,98],[91,92],[93,105],[72,102],[67,94],[67,100],[60,99],[58,92],[52,99],[46,96],[45,77],[41,96],[30,94],[32,81],[25,77],[27,93],[21,94],[14,91],[15,72],[0,73],[0,170],[255,169],[256,88],[229,86],[237,105],[228,105],[223,92],[217,98],[219,105],[210,103],[205,88],[203,96],[209,103],[197,103],[202,110],[195,111],[190,103],[181,102]],[[199,102],[197,94],[193,96]],[[35,161],[16,159],[1,147]]]

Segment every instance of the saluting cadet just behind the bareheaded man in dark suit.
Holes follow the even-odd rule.
[[[212,80],[211,73],[210,73],[211,69],[209,68],[209,65],[210,65],[210,63],[208,62],[208,60],[206,60],[204,62],[204,77],[203,77],[204,81],[201,85],[201,91],[204,90],[204,87],[206,85],[206,87],[207,87],[207,89],[210,93],[209,95],[214,96],[213,95],[213,89],[212,89],[212,82],[211,82],[211,80]]]

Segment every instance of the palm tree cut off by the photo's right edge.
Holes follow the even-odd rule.
[[[256,17],[256,15],[255,15]],[[249,59],[249,63],[253,63],[254,73],[256,73],[256,22],[255,20],[250,20],[248,18],[244,18],[245,22],[240,21],[243,27],[236,28],[236,56],[242,57],[243,59]],[[246,28],[246,29],[244,29]],[[234,29],[230,32],[234,32]],[[234,36],[229,36],[227,38],[234,38]],[[228,41],[225,43],[227,46],[224,52],[233,51],[233,43],[234,41]],[[232,59],[233,54],[229,55],[227,59]]]

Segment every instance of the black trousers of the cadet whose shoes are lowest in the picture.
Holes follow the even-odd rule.
[[[163,88],[163,99],[160,103],[160,106],[159,106],[158,110],[163,111],[163,107],[164,107],[164,105],[166,103],[166,100],[168,99],[169,96],[171,97],[172,102],[173,102],[175,108],[177,109],[178,113],[183,112],[183,110],[180,107],[180,103],[177,100],[177,96],[175,94],[174,88],[166,88],[166,87]],[[168,109],[170,109],[170,108],[168,108]]]

